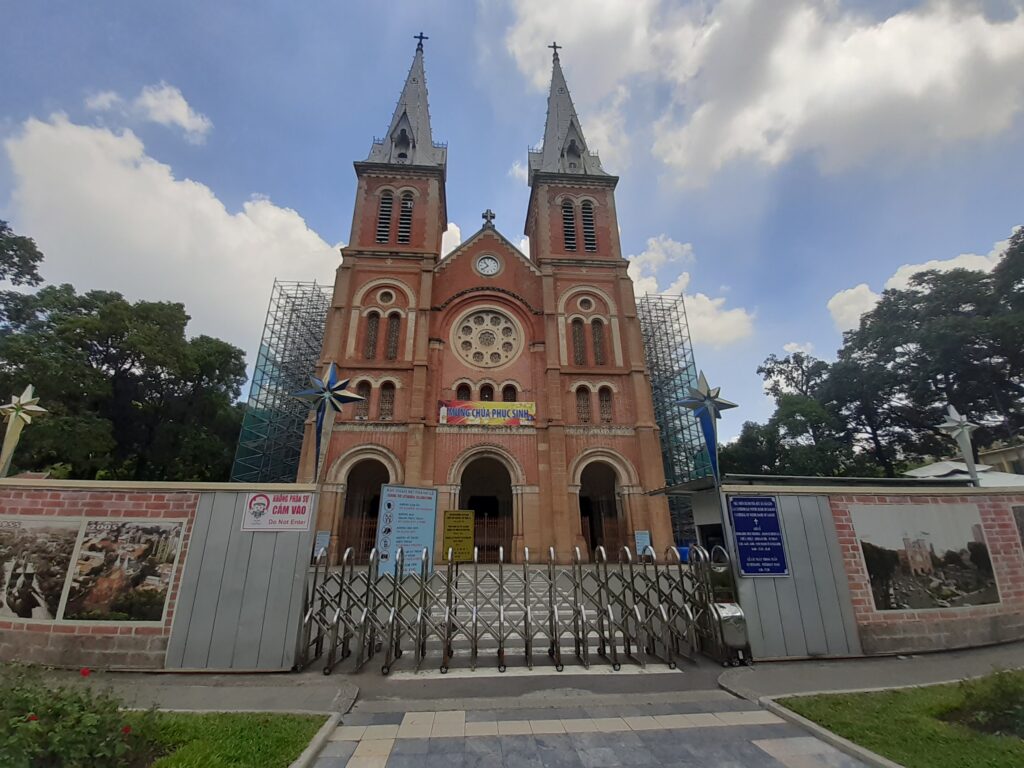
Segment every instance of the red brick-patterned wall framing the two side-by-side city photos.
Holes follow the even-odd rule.
[[[190,492],[0,487],[0,514],[5,516],[186,520],[162,626],[0,620],[0,659],[55,667],[162,669],[198,502],[199,494]]]

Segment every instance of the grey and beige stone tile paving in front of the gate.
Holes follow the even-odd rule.
[[[745,702],[746,708],[751,705]],[[351,715],[314,768],[862,768],[762,710],[685,706]],[[607,715],[607,708],[594,713]],[[646,713],[632,714],[635,710]],[[656,712],[653,712],[656,710]],[[689,710],[689,711],[688,711]],[[515,717],[511,717],[515,715]]]

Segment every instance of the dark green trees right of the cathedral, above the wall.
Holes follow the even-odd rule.
[[[1024,432],[1024,228],[991,272],[924,271],[888,290],[844,337],[836,362],[802,352],[758,368],[775,398],[721,451],[725,472],[895,477],[949,455],[952,403],[977,449]],[[982,567],[982,565],[979,565]]]

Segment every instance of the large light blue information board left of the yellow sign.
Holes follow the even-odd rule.
[[[398,549],[404,557],[402,575],[420,572],[420,555],[427,550],[433,569],[437,490],[409,485],[381,485],[377,517],[377,554],[381,572],[394,572]]]

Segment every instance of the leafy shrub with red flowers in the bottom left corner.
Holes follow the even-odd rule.
[[[38,670],[0,668],[0,765],[140,768],[161,752],[154,713],[134,714],[84,683],[51,686]]]

